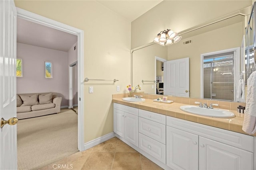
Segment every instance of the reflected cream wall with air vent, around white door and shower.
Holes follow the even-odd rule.
[[[243,23],[240,22],[215,29],[182,39],[182,42],[192,40],[190,44],[176,43],[168,47],[168,60],[189,57],[190,97],[200,98],[200,55],[240,47],[242,44],[242,25]]]

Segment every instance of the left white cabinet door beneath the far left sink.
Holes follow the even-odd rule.
[[[114,109],[114,132],[124,137],[124,111]]]

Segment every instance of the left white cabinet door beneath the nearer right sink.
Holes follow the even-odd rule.
[[[198,135],[166,126],[166,164],[172,169],[198,170]]]

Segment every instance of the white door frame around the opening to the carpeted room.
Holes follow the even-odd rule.
[[[34,14],[32,12],[17,8],[17,17],[32,21],[47,27],[58,29],[78,37],[78,150],[84,150],[84,31],[71,27],[64,23]]]

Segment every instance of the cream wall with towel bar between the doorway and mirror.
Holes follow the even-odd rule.
[[[130,82],[131,23],[96,1],[14,2],[19,8],[84,31],[84,76],[119,80],[84,83],[84,142],[111,133],[112,94],[123,93]],[[94,93],[88,93],[89,86]]]

